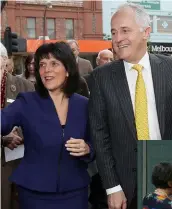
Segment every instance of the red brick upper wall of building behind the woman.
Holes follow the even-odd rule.
[[[83,1],[82,4],[81,2],[78,7],[74,4],[71,6],[70,2],[69,6],[66,5],[64,7],[61,4],[61,6],[56,5],[52,9],[47,10],[46,17],[55,19],[56,39],[65,39],[65,18],[72,18],[74,20],[75,39],[103,39],[102,2]],[[35,17],[36,38],[38,39],[39,36],[43,36],[45,5],[9,1],[5,11],[2,17],[3,31],[8,23],[14,32],[17,32],[22,38],[27,38],[27,17]]]

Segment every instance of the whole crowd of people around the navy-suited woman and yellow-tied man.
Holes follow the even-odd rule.
[[[111,32],[94,70],[70,40],[41,45],[14,76],[0,44],[2,209],[137,209],[137,141],[172,139],[172,59],[147,51],[151,21],[137,4],[117,9]],[[23,158],[5,162],[21,144]],[[144,208],[159,209],[171,177],[170,164],[155,168]]]

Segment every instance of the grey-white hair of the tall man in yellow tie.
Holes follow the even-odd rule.
[[[136,23],[141,26],[141,30],[143,31],[145,28],[151,26],[151,19],[147,11],[143,8],[143,6],[134,3],[125,3],[118,7],[115,14],[123,10],[125,8],[131,8],[135,12]]]

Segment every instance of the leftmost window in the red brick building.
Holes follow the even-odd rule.
[[[36,38],[36,18],[27,18],[27,36],[28,38]]]

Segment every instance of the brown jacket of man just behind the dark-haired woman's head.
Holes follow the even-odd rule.
[[[90,74],[93,71],[91,62],[81,57],[78,57],[78,69],[81,76]]]

